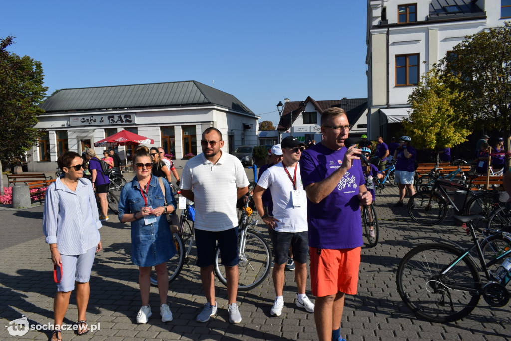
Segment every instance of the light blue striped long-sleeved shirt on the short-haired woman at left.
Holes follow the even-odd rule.
[[[73,192],[61,179],[46,191],[42,230],[46,242],[56,243],[59,253],[84,254],[101,240],[98,229],[102,225],[92,184],[86,179],[78,179]]]

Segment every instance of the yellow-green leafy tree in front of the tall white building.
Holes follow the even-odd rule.
[[[438,78],[435,69],[421,77],[408,96],[410,117],[403,121],[406,134],[413,136],[416,147],[438,150],[467,140],[470,120],[456,112],[459,98],[457,91]]]

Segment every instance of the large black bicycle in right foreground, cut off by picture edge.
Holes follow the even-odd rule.
[[[511,234],[488,231],[490,236],[479,242],[472,222],[483,216],[453,218],[470,233],[472,247],[462,250],[445,243],[421,245],[410,250],[398,266],[396,284],[401,299],[416,316],[431,322],[463,318],[477,306],[481,296],[493,307],[502,307],[509,301],[506,285],[511,280],[511,269],[496,265],[511,256]],[[470,255],[474,249],[485,283]]]

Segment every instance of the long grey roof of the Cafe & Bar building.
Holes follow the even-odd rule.
[[[212,104],[254,115],[235,96],[197,81],[62,89],[40,107],[54,113]]]

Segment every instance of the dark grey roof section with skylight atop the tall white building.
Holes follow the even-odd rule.
[[[474,0],[431,0],[428,20],[480,16],[484,12]]]

